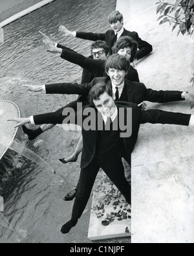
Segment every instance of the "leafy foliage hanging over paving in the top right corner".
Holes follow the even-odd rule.
[[[193,0],[174,0],[175,3],[166,3],[160,0],[156,3],[157,14],[161,14],[160,25],[169,22],[173,26],[172,31],[178,27],[178,34],[192,35],[194,32],[194,1]],[[177,35],[178,35],[177,34]]]

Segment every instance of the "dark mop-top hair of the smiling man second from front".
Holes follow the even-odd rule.
[[[130,62],[125,56],[113,54],[105,61],[105,71],[108,73],[109,69],[124,70],[126,73],[129,70]]]

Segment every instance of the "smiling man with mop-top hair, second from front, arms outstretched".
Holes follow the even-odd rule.
[[[39,92],[45,91],[45,93],[60,93],[60,94],[76,94],[83,96],[83,99],[88,97],[90,89],[99,82],[107,84],[111,89],[113,89],[113,94],[116,100],[133,102],[136,104],[142,104],[144,100],[150,102],[171,102],[178,100],[186,100],[190,105],[194,105],[194,96],[187,91],[155,91],[153,89],[147,89],[146,86],[140,82],[131,82],[125,80],[125,75],[130,67],[129,62],[127,62],[124,56],[119,54],[113,54],[105,62],[105,71],[109,77],[99,77],[94,78],[89,84],[46,84],[45,86],[39,85],[25,85],[30,91]],[[87,105],[88,102],[85,100],[83,104]],[[77,101],[71,102],[65,108],[76,108]],[[62,111],[61,110],[58,111]],[[50,125],[52,128],[53,125]],[[47,125],[41,126],[37,130],[29,130],[25,127],[24,132],[29,138],[35,139],[39,134],[48,130]],[[32,134],[32,137],[31,137]]]

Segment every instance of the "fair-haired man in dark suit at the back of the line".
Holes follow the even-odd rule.
[[[64,26],[60,26],[59,30],[65,34],[65,36],[73,36],[76,38],[81,38],[84,40],[91,40],[97,41],[102,40],[107,43],[107,45],[112,49],[114,43],[120,36],[131,36],[135,41],[138,43],[138,52],[136,54],[136,59],[139,60],[149,54],[153,48],[152,46],[147,43],[147,41],[142,40],[139,38],[138,33],[133,31],[128,31],[124,29],[124,17],[123,15],[118,12],[118,10],[111,12],[109,15],[109,24],[111,25],[111,30],[105,32],[105,34],[97,34],[91,32],[76,32],[70,31]]]

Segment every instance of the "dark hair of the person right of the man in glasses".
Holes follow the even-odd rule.
[[[120,49],[124,49],[125,47],[131,48],[130,62],[133,62],[136,58],[138,43],[137,41],[133,40],[131,36],[121,36],[120,38],[118,38],[118,40],[116,41],[116,43],[114,43],[112,47],[112,51],[113,53],[117,53]]]

